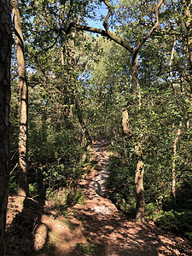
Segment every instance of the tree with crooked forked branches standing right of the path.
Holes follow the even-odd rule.
[[[160,2],[155,6],[154,14],[155,14],[155,22],[154,25],[150,28],[150,30],[143,35],[143,33],[138,38],[135,44],[137,45],[135,48],[129,44],[127,40],[124,38],[120,38],[119,36],[116,36],[114,32],[111,32],[109,30],[108,26],[108,20],[113,14],[113,6],[108,3],[107,0],[103,0],[103,3],[108,7],[108,14],[106,15],[105,19],[103,20],[102,25],[104,26],[105,30],[98,29],[95,27],[90,26],[84,26],[79,25],[75,22],[71,22],[67,29],[64,29],[66,34],[68,34],[72,27],[75,27],[78,30],[87,31],[87,32],[95,32],[99,33],[102,36],[109,38],[116,42],[117,44],[123,46],[125,49],[131,53],[131,59],[132,59],[132,81],[131,81],[131,102],[129,102],[129,105],[133,105],[133,102],[136,102],[137,98],[137,83],[138,83],[138,55],[140,49],[143,47],[143,44],[150,38],[152,33],[155,31],[155,29],[159,26],[159,9],[161,4],[163,3],[163,0],[160,0]],[[133,131],[131,131],[131,126],[129,125],[129,119],[128,119],[128,111],[125,109],[125,112],[123,112],[123,124],[125,126],[123,127],[125,134],[128,137],[131,137],[132,143],[135,148],[135,154],[136,154],[136,161],[137,161],[137,168],[136,168],[136,175],[135,175],[135,184],[136,184],[136,191],[137,191],[137,214],[136,219],[138,222],[144,222],[144,190],[143,190],[143,172],[144,172],[144,164],[143,164],[143,148],[142,143],[139,143],[136,137],[134,137]]]

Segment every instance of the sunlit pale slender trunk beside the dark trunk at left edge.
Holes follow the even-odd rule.
[[[15,44],[17,49],[17,63],[20,87],[20,136],[19,136],[19,173],[18,195],[25,199],[28,193],[27,183],[27,114],[28,114],[28,89],[26,81],[26,67],[24,59],[24,40],[20,24],[20,11],[17,0],[12,0],[13,19],[15,26]]]

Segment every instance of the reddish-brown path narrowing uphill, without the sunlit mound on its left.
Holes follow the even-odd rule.
[[[108,180],[107,146],[96,143],[93,147],[102,171],[85,189],[87,202],[84,207],[75,206],[83,243],[96,246],[96,256],[123,255],[192,255],[189,242],[172,234],[166,234],[154,224],[137,224],[128,221],[111,201],[105,198]],[[70,218],[72,223],[77,219]],[[79,255],[76,250],[68,254],[56,252],[57,256]]]

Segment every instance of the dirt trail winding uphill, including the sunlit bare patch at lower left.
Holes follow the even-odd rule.
[[[93,149],[102,170],[96,177],[87,177],[90,182],[84,183],[86,203],[84,206],[72,207],[67,217],[55,217],[54,212],[44,210],[40,224],[35,230],[34,248],[38,255],[192,255],[189,241],[167,234],[153,223],[137,224],[128,221],[113,203],[105,198],[108,179],[107,145],[97,142]],[[91,248],[93,254],[89,254]],[[27,254],[15,253],[16,255]]]

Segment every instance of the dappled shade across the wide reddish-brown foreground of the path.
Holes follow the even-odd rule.
[[[97,248],[97,256],[192,255],[191,248],[183,239],[164,234],[150,224],[127,221],[119,212],[102,215],[88,207],[79,212],[79,218],[82,220],[86,240]],[[71,255],[75,253],[74,250]]]

